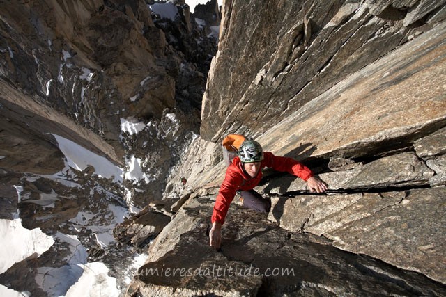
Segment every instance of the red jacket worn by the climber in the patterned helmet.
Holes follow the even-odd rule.
[[[226,169],[226,176],[220,186],[220,191],[215,201],[214,212],[211,218],[212,223],[224,223],[229,204],[231,204],[233,198],[236,196],[236,191],[249,191],[257,186],[262,178],[262,168],[265,167],[270,167],[277,171],[289,172],[305,180],[305,182],[313,176],[312,170],[295,161],[295,159],[275,156],[272,152],[263,152],[263,161],[261,161],[259,173],[256,177],[250,177],[243,170],[242,161],[236,156]]]

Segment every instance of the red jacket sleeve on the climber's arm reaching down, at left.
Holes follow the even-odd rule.
[[[215,200],[214,211],[212,214],[212,223],[219,222],[224,223],[224,218],[228,213],[229,205],[236,196],[237,188],[243,182],[243,177],[241,177],[231,166],[227,170],[224,177],[224,181],[220,186],[220,191],[218,192],[217,199]]]

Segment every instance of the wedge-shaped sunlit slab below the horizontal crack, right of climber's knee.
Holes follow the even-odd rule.
[[[445,283],[445,190],[275,198],[270,218]]]

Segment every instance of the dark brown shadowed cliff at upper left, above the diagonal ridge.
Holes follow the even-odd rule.
[[[39,115],[38,109],[52,109],[85,127],[91,138],[109,144],[98,148],[121,166],[132,156],[147,159],[141,167],[151,178],[126,184],[152,193],[132,198],[140,208],[162,199],[169,168],[199,131],[206,74],[217,50],[217,39],[206,30],[218,19],[198,26],[184,2],[172,5],[175,19],[155,14],[143,0],[11,2],[1,9],[1,99],[24,103],[18,105]],[[9,118],[9,112],[2,115]],[[147,125],[144,134],[121,133],[123,119]],[[17,143],[13,129],[3,131],[2,145]],[[40,137],[39,127],[31,130],[24,133],[36,135],[24,137]],[[73,130],[72,138],[78,133]],[[153,135],[154,145],[147,141]],[[43,161],[52,154],[45,141],[45,154],[32,159],[48,165],[38,167],[52,163]],[[39,141],[34,143],[26,154],[39,151]],[[3,166],[18,166],[20,160],[4,150]]]

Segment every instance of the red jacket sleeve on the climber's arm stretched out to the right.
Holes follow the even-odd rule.
[[[312,170],[295,159],[286,156],[275,156],[272,152],[264,152],[263,155],[266,167],[277,171],[289,172],[291,175],[305,180],[305,182],[314,175]]]

